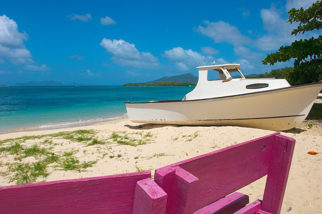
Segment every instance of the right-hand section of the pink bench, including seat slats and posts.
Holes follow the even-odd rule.
[[[294,146],[275,133],[157,169],[147,186],[161,188],[137,184],[134,213],[280,213]],[[248,196],[233,193],[265,175],[262,201],[247,205]],[[143,199],[149,207],[137,206]]]

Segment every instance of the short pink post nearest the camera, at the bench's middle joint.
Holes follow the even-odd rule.
[[[137,181],[133,213],[166,213],[166,200],[166,192],[151,178]]]

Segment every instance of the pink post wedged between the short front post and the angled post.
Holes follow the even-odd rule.
[[[156,169],[154,181],[166,192],[166,213],[170,212],[172,202],[172,190],[175,184],[175,169],[172,167],[162,167]]]

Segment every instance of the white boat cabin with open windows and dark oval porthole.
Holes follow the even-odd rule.
[[[246,79],[240,71],[240,64],[196,66],[196,68],[199,69],[198,83],[183,100],[218,98],[290,86],[286,79]],[[216,79],[211,78],[212,73],[217,74]],[[231,73],[236,73],[240,77],[233,78]]]

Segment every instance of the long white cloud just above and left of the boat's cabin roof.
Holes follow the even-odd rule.
[[[184,50],[182,47],[176,47],[167,51],[164,51],[164,57],[175,63],[175,67],[178,70],[190,70],[195,66],[211,65],[213,61],[215,63],[226,62],[222,58],[216,59],[212,56],[204,56],[191,49]]]

